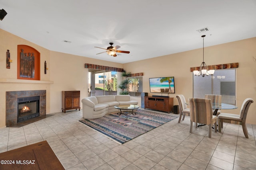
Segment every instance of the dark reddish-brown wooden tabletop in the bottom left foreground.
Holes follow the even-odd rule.
[[[1,170],[65,170],[47,141],[0,153]]]

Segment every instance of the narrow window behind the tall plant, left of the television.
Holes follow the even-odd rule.
[[[141,77],[129,77],[129,94],[130,96],[141,96],[142,90],[142,76]]]

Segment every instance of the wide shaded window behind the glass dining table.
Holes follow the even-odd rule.
[[[215,70],[212,76],[193,75],[193,97],[222,95],[222,103],[236,104],[236,69]]]

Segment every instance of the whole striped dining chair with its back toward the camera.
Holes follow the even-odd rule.
[[[208,137],[212,137],[212,125],[214,132],[217,132],[217,116],[212,115],[212,102],[210,99],[189,98],[190,105],[190,133],[192,133],[193,122],[209,126]]]

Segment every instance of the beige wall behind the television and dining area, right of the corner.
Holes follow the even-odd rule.
[[[256,37],[234,41],[204,48],[204,61],[208,65],[239,63],[236,69],[236,103],[238,109],[222,110],[226,113],[239,114],[242,102],[246,98],[253,98],[255,103],[250,106],[246,123],[256,124],[256,63],[252,56],[256,57]],[[188,100],[192,92],[192,72],[190,67],[200,66],[202,63],[202,49],[185,51],[172,55],[156,57],[152,59],[126,63],[124,70],[132,73],[143,72],[143,91],[150,94],[148,78],[161,76],[175,77],[174,105],[178,105],[176,94],[183,94]],[[202,86],[203,88],[203,86]]]

